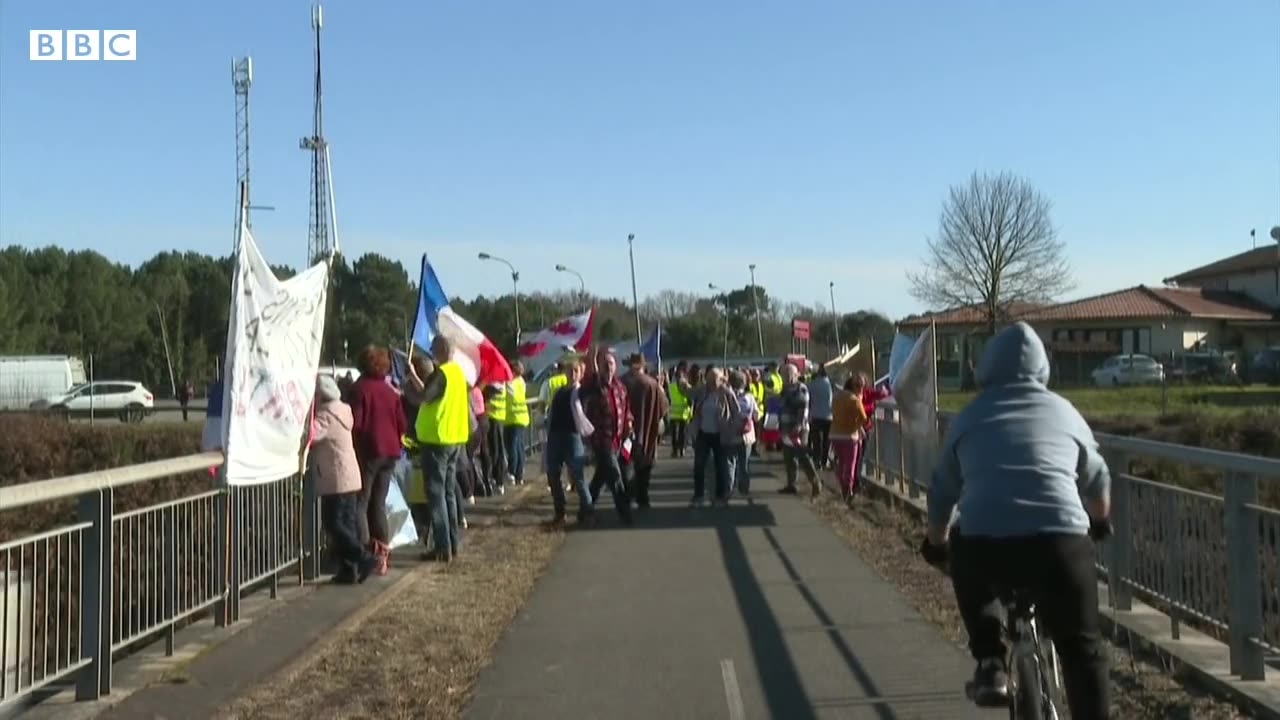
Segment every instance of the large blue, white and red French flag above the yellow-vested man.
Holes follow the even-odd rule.
[[[443,334],[453,342],[453,360],[462,368],[468,384],[504,383],[513,377],[511,365],[498,346],[449,307],[449,296],[444,295],[440,279],[435,277],[435,269],[431,268],[426,255],[422,255],[422,275],[417,286],[417,316],[413,319],[413,345],[430,350],[436,334]]]

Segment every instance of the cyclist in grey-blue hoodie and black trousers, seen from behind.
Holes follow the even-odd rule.
[[[1071,717],[1105,719],[1107,656],[1089,528],[1110,515],[1111,475],[1088,423],[1048,389],[1048,377],[1044,345],[1027,323],[988,343],[978,396],[951,421],[933,470],[924,550],[950,541],[956,605],[978,661],[975,702],[1009,702],[995,588],[1018,587],[1030,592],[1062,659]]]

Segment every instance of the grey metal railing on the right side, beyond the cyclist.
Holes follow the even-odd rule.
[[[892,401],[876,410],[867,475],[919,498],[946,432],[916,439],[902,432]],[[1280,460],[1097,433],[1111,469],[1115,534],[1098,551],[1100,578],[1115,610],[1134,597],[1169,615],[1170,634],[1192,623],[1225,639],[1230,671],[1262,680],[1267,655],[1280,651],[1280,509],[1258,503],[1260,483],[1280,483]],[[1222,495],[1144,474],[1197,470]]]

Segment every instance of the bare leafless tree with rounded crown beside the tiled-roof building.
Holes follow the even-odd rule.
[[[928,241],[924,268],[909,272],[913,297],[936,309],[978,309],[995,333],[1030,304],[1074,288],[1051,202],[1011,173],[974,173],[952,186]]]

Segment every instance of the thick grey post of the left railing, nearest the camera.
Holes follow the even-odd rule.
[[[79,519],[91,523],[79,546],[79,657],[76,700],[97,700],[111,685],[111,491],[79,498]]]

